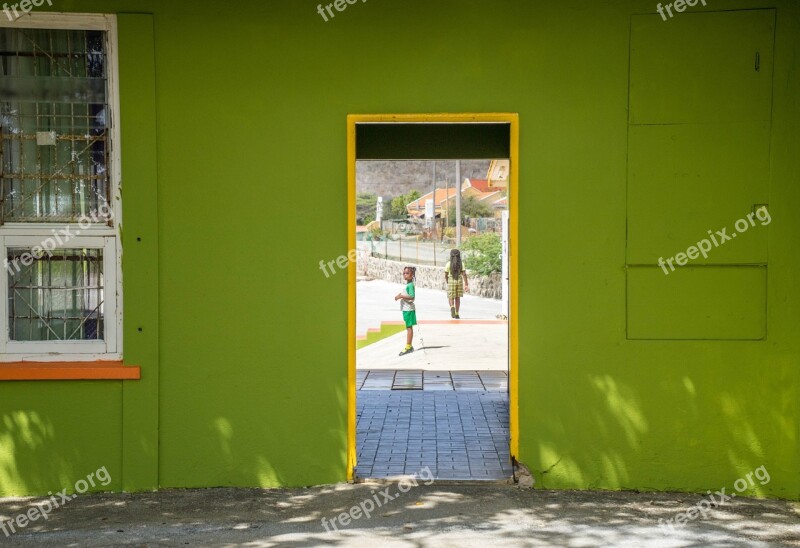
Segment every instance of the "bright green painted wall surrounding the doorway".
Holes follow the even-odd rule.
[[[626,338],[629,32],[650,1],[373,1],[328,22],[311,1],[61,1],[152,14],[120,18],[125,357],[143,372],[0,383],[0,495],[103,465],[128,490],[343,481],[347,280],[318,263],[348,247],[345,117],[518,112],[537,485],[705,491],[765,465],[758,494],[800,498],[800,6],[721,2],[777,8],[757,341]]]

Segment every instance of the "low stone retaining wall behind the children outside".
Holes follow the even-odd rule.
[[[387,282],[402,284],[403,267],[409,263],[390,261],[371,257],[369,251],[359,251],[356,263],[359,276],[368,276]],[[469,294],[478,297],[488,297],[490,299],[500,299],[502,297],[503,284],[500,274],[495,273],[491,276],[471,276],[467,271],[469,279]],[[428,289],[439,289],[445,291],[447,286],[444,282],[443,266],[417,266],[417,287]]]

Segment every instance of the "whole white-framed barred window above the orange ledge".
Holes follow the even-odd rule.
[[[113,17],[0,22],[0,361],[122,356]]]

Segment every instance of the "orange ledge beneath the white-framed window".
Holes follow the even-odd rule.
[[[0,381],[139,380],[138,365],[117,362],[0,363]]]

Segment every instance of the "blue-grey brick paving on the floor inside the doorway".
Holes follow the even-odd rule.
[[[505,391],[362,389],[356,414],[359,478],[408,475],[425,466],[437,479],[512,475]]]

